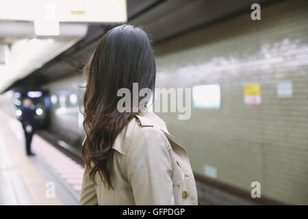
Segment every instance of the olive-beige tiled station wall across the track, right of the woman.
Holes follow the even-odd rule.
[[[180,24],[179,24],[180,25]],[[192,107],[189,120],[159,113],[185,145],[194,172],[261,197],[308,204],[308,1],[262,7],[156,47],[157,87],[219,84],[220,109]],[[292,83],[279,98],[277,83]],[[261,105],[244,104],[244,85],[261,85]]]

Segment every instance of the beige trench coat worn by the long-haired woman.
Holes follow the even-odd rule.
[[[198,205],[188,154],[157,115],[136,116],[118,134],[107,162],[114,190],[84,174],[81,205]]]

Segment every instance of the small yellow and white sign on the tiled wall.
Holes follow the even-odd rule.
[[[246,83],[244,85],[244,103],[246,105],[261,104],[261,85],[259,83]]]

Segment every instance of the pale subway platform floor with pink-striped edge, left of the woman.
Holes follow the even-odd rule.
[[[0,205],[78,205],[84,168],[34,135],[25,153],[21,123],[0,110]]]

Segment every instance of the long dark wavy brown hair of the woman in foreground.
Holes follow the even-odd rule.
[[[118,112],[120,88],[155,88],[155,57],[151,42],[139,27],[120,25],[108,31],[97,44],[85,68],[88,83],[84,93],[86,141],[82,155],[90,179],[99,172],[107,188],[112,188],[107,159],[118,133],[138,112]],[[131,95],[132,96],[132,95]]]

